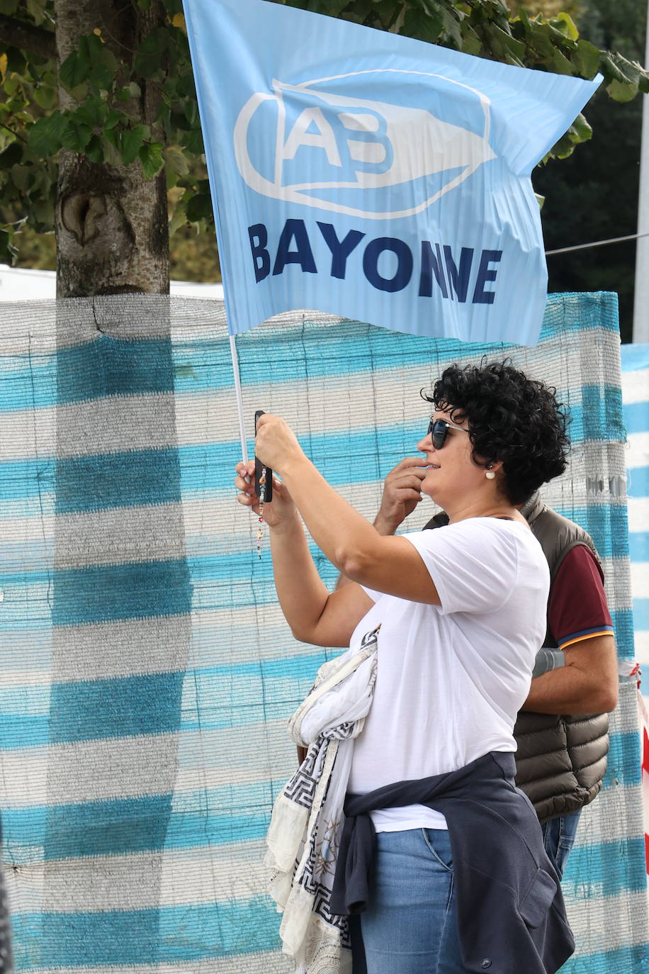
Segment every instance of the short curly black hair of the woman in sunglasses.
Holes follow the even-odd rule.
[[[451,365],[422,396],[451,414],[453,423],[468,421],[472,459],[480,467],[502,461],[503,489],[521,505],[542,483],[565,469],[570,443],[568,418],[557,390],[528,379],[511,359],[480,365]]]

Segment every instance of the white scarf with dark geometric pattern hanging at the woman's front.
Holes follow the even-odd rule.
[[[377,635],[324,663],[289,721],[306,758],[277,797],[267,837],[269,892],[283,910],[283,953],[299,974],[351,971],[346,917],[329,909],[343,832],[354,738],[363,730],[377,677]]]

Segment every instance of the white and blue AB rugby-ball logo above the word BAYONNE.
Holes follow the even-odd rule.
[[[414,73],[422,84],[435,79],[438,96],[454,88],[479,131],[391,103],[401,76]],[[350,82],[374,97],[336,91]],[[377,68],[301,85],[273,80],[272,88],[242,108],[234,151],[248,186],[275,200],[367,219],[412,216],[494,158],[487,96],[441,75]]]

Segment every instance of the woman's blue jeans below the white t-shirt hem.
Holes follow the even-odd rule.
[[[352,920],[353,974],[465,974],[446,829],[379,832],[368,909]]]

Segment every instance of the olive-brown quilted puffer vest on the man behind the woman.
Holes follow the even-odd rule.
[[[578,544],[590,547],[599,560],[590,535],[545,506],[538,494],[523,506],[522,513],[548,560],[551,587],[566,554]],[[446,514],[437,514],[425,527],[438,528],[447,522]],[[549,625],[543,645],[557,649]],[[518,744],[516,783],[541,822],[578,811],[593,801],[606,770],[608,714],[535,714],[522,710],[514,736]]]

